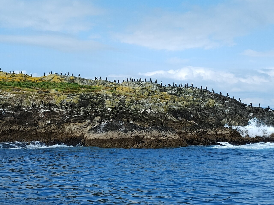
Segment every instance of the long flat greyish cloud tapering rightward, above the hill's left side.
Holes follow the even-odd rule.
[[[62,51],[82,51],[106,48],[106,46],[92,40],[80,40],[69,36],[60,35],[40,35],[40,36],[19,36],[0,35],[0,42],[27,44],[35,46],[49,47]]]

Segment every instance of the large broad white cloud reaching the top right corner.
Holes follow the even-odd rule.
[[[194,7],[188,12],[157,10],[116,34],[121,42],[151,49],[211,49],[234,45],[234,39],[256,28],[274,24],[274,1],[226,1],[211,7]]]

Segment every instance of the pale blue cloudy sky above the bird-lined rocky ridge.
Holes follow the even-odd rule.
[[[193,83],[274,107],[272,0],[0,0],[4,71]]]

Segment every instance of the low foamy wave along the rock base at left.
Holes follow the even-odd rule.
[[[0,148],[5,148],[5,149],[43,149],[43,148],[57,148],[57,147],[73,147],[73,146],[67,146],[66,144],[62,144],[62,143],[41,143],[39,141],[0,143]]]

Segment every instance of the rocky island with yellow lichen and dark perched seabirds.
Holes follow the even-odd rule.
[[[265,141],[225,128],[274,111],[194,87],[0,72],[0,141],[156,148]],[[67,104],[67,105],[66,105]],[[267,138],[271,141],[273,138]]]

